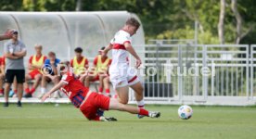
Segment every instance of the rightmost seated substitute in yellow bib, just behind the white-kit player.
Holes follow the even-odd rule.
[[[110,96],[109,90],[109,66],[111,64],[111,59],[108,56],[102,56],[101,52],[105,47],[101,47],[99,54],[94,59],[93,74],[89,74],[85,78],[84,85],[86,87],[90,86],[90,82],[99,81],[98,93],[103,93],[103,88],[105,88],[106,95]]]

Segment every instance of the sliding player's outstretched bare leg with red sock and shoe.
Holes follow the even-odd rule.
[[[128,105],[123,105],[120,103],[117,99],[111,98],[109,102],[109,110],[120,110],[120,111],[126,111],[130,112],[132,114],[139,114],[139,115],[144,115],[150,118],[159,118],[160,117],[160,112],[157,111],[147,111],[144,108],[139,108],[139,107],[132,107]]]

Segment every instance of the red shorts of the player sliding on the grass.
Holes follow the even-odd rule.
[[[108,96],[92,93],[85,103],[80,106],[80,110],[88,120],[96,120],[98,117],[96,114],[97,109],[109,110],[109,102],[110,98]]]

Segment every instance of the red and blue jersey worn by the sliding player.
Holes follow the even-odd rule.
[[[84,97],[89,92],[89,88],[84,87],[83,83],[75,78],[74,74],[67,72],[61,78],[62,82],[66,82],[66,85],[60,88],[60,90],[69,96],[71,103],[75,107],[80,107]]]

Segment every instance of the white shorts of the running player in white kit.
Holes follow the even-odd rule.
[[[140,82],[136,72],[136,69],[130,67],[119,69],[115,66],[111,66],[109,68],[109,80],[114,89],[127,85],[131,86],[137,82]]]

